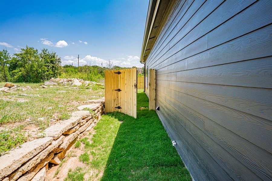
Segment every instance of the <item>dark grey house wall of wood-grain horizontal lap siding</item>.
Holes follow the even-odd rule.
[[[271,8],[180,0],[149,53],[157,114],[195,180],[271,180]]]

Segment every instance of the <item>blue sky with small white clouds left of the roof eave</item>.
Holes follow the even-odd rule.
[[[148,0],[1,1],[0,49],[56,51],[62,64],[138,66]]]

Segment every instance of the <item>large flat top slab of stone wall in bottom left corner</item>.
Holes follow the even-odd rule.
[[[22,144],[21,148],[16,148],[2,155],[0,157],[0,179],[8,176],[23,163],[44,150],[52,141],[53,138],[50,137],[35,139]]]

